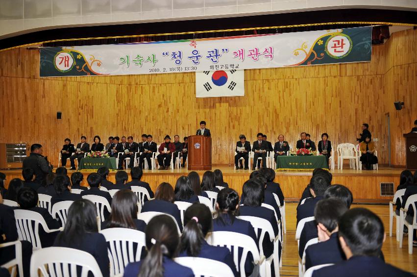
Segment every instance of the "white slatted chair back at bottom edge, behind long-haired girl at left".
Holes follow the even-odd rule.
[[[80,275],[77,266],[81,267]],[[30,276],[38,276],[38,270],[44,277],[87,277],[89,272],[94,277],[103,277],[92,254],[66,247],[48,247],[34,252],[30,260]]]

